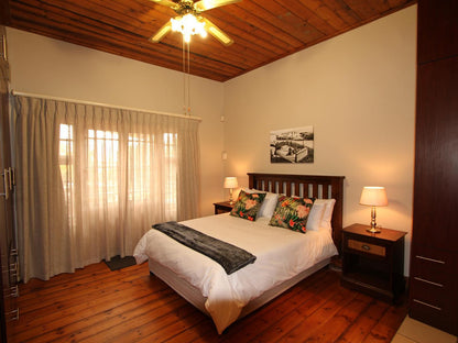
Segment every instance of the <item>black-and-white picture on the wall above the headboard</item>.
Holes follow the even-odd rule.
[[[271,163],[314,163],[314,126],[271,131]]]

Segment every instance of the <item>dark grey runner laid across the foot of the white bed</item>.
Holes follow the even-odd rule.
[[[154,224],[153,229],[219,263],[228,275],[254,263],[257,256],[175,221]]]

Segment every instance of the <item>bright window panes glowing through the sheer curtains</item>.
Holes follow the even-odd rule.
[[[84,135],[86,143],[83,154],[87,164],[80,170],[81,175],[75,175],[74,126],[61,124],[59,129],[59,167],[65,198],[72,213],[75,210],[76,179],[85,182],[85,201],[92,207],[102,203],[118,206],[122,185],[127,185],[127,201],[137,206],[148,203],[151,197],[154,197],[153,189],[157,188],[157,185],[154,185],[155,179],[159,179],[153,172],[157,169],[153,166],[154,157],[162,154],[160,161],[163,162],[161,168],[165,182],[161,185],[161,200],[168,217],[176,218],[176,133],[164,133],[162,142],[155,142],[155,136],[151,134],[129,133],[122,140],[118,132],[88,130]],[[122,154],[127,156],[127,166],[122,166]]]

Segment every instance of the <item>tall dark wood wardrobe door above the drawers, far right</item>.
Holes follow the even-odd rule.
[[[419,65],[417,82],[414,239],[456,252],[458,56]]]

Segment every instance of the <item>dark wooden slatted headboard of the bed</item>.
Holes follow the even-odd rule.
[[[340,252],[345,176],[247,173],[249,187],[286,196],[336,199],[332,212],[332,240]]]

